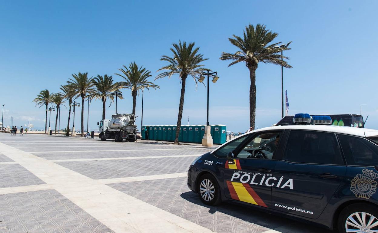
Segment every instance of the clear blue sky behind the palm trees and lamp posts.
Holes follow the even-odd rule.
[[[195,42],[209,58],[204,65],[218,71],[210,83],[210,123],[231,131],[249,127],[249,71],[244,64],[227,67],[222,51],[235,52],[228,42],[242,35],[249,23],[265,24],[279,34],[277,41],[291,43],[292,69],[284,69],[289,114],[360,113],[369,115],[366,126],[378,129],[377,106],[377,1],[1,1],[0,105],[4,123],[44,126],[44,108],[32,100],[42,89],[59,91],[71,74],[88,72],[114,75],[118,68],[136,62],[152,71],[165,65],[162,55],[179,40]],[[161,86],[144,95],[146,125],[177,123],[180,81],[154,81]],[[280,120],[281,67],[259,63],[256,72],[256,126]],[[118,102],[119,112],[131,113],[132,97]],[[107,103],[109,106],[109,102]],[[79,109],[80,110],[80,109]],[[62,107],[60,128],[67,125]],[[115,112],[107,108],[106,116]],[[55,113],[55,112],[52,112]],[[77,111],[79,113],[79,111]],[[141,113],[141,95],[136,113]],[[85,110],[87,114],[87,110]],[[89,125],[101,120],[102,105],[90,105]],[[53,128],[54,118],[51,116]],[[183,124],[206,123],[206,88],[187,80]],[[86,119],[86,117],[85,117]],[[71,121],[72,122],[72,121]],[[80,114],[76,114],[76,128]],[[85,120],[85,128],[87,122]],[[138,126],[140,118],[138,119]]]

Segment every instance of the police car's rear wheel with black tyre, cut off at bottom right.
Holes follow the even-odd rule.
[[[365,219],[363,219],[364,216]],[[378,224],[378,210],[372,204],[355,203],[348,205],[341,211],[338,218],[338,230],[340,233],[358,229],[360,229],[358,232],[370,232],[369,228],[371,228],[370,230],[378,230],[378,226],[369,227],[373,224]]]

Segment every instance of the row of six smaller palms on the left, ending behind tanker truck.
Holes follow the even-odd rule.
[[[64,100],[68,101],[69,111],[68,111],[68,122],[67,128],[65,130],[65,135],[69,136],[70,133],[70,117],[71,117],[71,106],[73,101],[81,97],[81,105],[84,106],[84,100],[87,98],[101,99],[102,101],[102,119],[105,119],[106,101],[110,99],[114,102],[113,92],[119,91],[122,88],[127,88],[131,90],[133,97],[133,114],[135,115],[136,107],[136,96],[139,90],[149,88],[160,88],[152,82],[148,81],[151,77],[151,72],[146,68],[143,68],[133,62],[130,63],[129,68],[123,66],[124,68],[119,69],[123,75],[117,74],[125,79],[122,82],[114,82],[112,76],[105,74],[104,76],[98,75],[97,77],[88,77],[88,73],[77,73],[72,74],[72,78],[68,79],[66,85],[60,86],[60,93],[50,93],[47,89],[41,91],[37,97],[33,100],[36,106],[46,106],[46,119],[45,119],[45,134],[47,133],[47,107],[50,103],[56,106],[56,120],[55,120],[55,134],[56,126],[58,120],[58,114],[60,111],[60,106],[65,103]],[[122,98],[122,94],[120,96]],[[109,105],[110,106],[110,105]],[[84,135],[84,108],[81,108],[81,136]]]

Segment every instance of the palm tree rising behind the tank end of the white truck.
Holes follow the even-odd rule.
[[[121,76],[126,80],[126,82],[121,82],[122,88],[131,90],[131,95],[133,97],[133,114],[135,115],[136,95],[138,94],[139,90],[144,88],[146,88],[147,90],[150,90],[149,88],[156,90],[156,88],[160,88],[160,86],[155,85],[154,83],[147,80],[152,76],[151,71],[143,68],[143,66],[139,68],[138,65],[133,62],[129,64],[129,68],[127,68],[126,66],[123,67],[124,69],[119,69],[119,71],[121,71],[123,75],[116,75]]]

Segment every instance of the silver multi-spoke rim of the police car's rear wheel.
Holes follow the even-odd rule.
[[[345,221],[345,230],[347,233],[378,233],[378,219],[366,212],[355,212]]]

